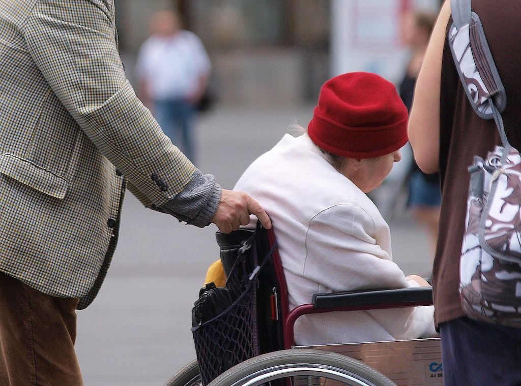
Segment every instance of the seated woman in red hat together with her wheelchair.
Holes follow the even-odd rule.
[[[185,366],[168,386],[212,380],[211,386],[273,385],[281,379],[391,386],[391,374],[401,385],[440,384],[433,382],[442,376],[439,339],[414,341],[436,336],[432,290],[392,261],[389,226],[366,196],[400,161],[406,125],[407,109],[390,82],[365,72],[339,75],[321,88],[307,133],[285,135],[246,169],[235,189],[263,205],[272,229],[252,216],[246,229],[217,234],[233,304],[194,326],[199,365]],[[366,343],[357,342],[380,342],[367,343],[379,344],[369,349],[370,366],[353,359],[365,355],[357,346]],[[295,343],[326,345],[347,356],[301,347],[280,351]],[[375,366],[375,357],[383,365]],[[410,363],[387,371],[388,363],[400,361]]]

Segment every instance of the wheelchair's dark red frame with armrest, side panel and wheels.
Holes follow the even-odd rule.
[[[268,230],[264,237],[269,250],[276,242],[274,231]],[[303,315],[432,305],[432,288],[317,293],[311,303],[289,311],[286,279],[276,248],[271,260],[278,283],[278,291],[274,288],[270,297],[271,320],[282,327],[283,350],[248,359],[225,371],[209,386],[255,386],[287,377],[292,377],[291,383],[295,384],[302,377],[306,384],[310,380],[323,384],[324,379],[356,386],[443,384],[439,338],[317,346],[295,346],[294,342],[294,324]],[[198,375],[199,367],[193,361],[165,386],[195,386],[201,384]]]

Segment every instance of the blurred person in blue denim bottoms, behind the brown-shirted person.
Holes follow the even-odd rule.
[[[411,50],[405,74],[399,85],[400,97],[407,110],[411,110],[416,77],[423,63],[429,37],[436,22],[435,14],[407,12],[402,25],[403,41]],[[440,174],[422,172],[414,159],[408,177],[407,207],[414,220],[425,229],[429,242],[431,260],[436,252],[438,225],[440,221]]]

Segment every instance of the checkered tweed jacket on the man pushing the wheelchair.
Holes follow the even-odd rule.
[[[113,3],[0,0],[0,271],[78,308],[105,277],[126,188],[160,207],[196,171],[126,79]]]

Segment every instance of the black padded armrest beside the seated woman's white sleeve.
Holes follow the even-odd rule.
[[[401,289],[363,290],[333,293],[315,293],[313,308],[341,308],[373,304],[403,304],[413,306],[414,303],[425,305],[432,302],[432,287],[408,287]]]

